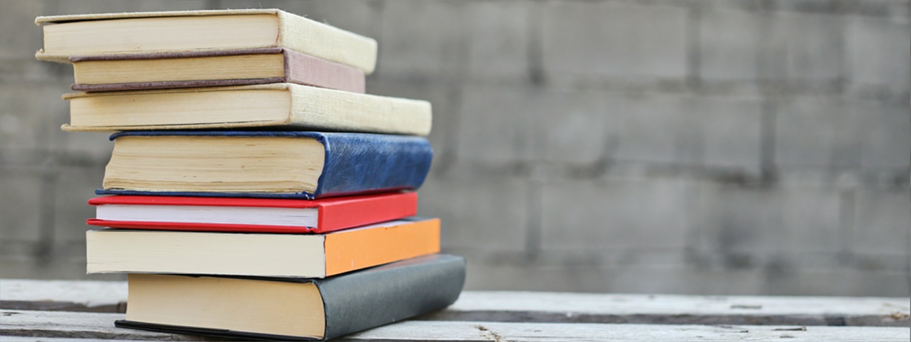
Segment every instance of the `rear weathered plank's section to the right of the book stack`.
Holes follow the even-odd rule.
[[[466,292],[428,320],[551,323],[911,326],[911,299]]]

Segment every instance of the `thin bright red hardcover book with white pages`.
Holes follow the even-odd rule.
[[[106,196],[88,200],[102,227],[237,233],[328,233],[417,213],[417,192],[322,200]]]

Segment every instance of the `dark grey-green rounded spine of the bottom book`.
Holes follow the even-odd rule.
[[[332,339],[455,303],[465,259],[435,254],[315,283],[326,315],[324,338]]]

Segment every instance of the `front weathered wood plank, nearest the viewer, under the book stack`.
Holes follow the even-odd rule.
[[[114,327],[121,314],[0,310],[4,337],[122,340],[207,340]],[[903,341],[911,330],[891,326],[691,326],[592,323],[404,321],[346,337],[349,341]]]

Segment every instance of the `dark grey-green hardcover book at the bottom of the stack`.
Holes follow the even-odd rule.
[[[325,279],[128,275],[116,326],[246,340],[331,339],[440,310],[465,284],[465,260],[428,255]]]

